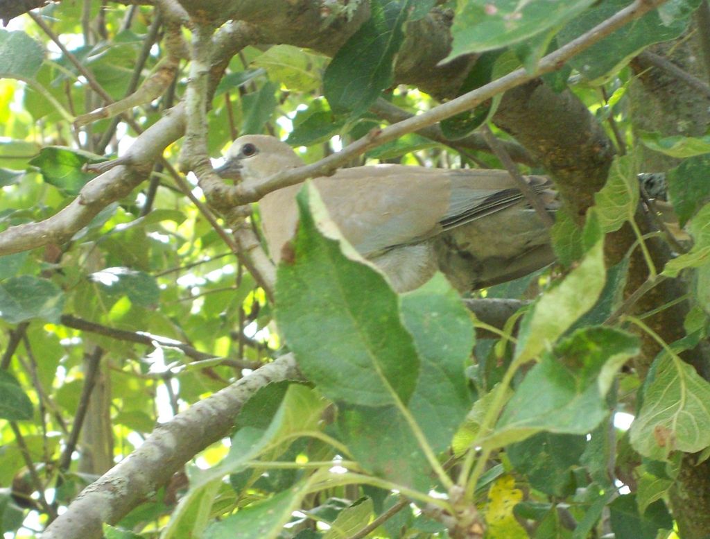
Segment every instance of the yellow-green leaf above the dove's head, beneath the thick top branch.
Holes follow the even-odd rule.
[[[320,87],[325,62],[324,56],[293,45],[273,45],[252,63],[263,67],[271,80],[278,80],[287,89],[311,92]]]

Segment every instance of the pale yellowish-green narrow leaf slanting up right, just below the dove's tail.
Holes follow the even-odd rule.
[[[523,318],[516,361],[532,359],[555,342],[581,315],[591,309],[606,281],[603,261],[603,240],[597,241],[577,268],[564,281],[549,290]],[[584,294],[579,293],[584,290]]]

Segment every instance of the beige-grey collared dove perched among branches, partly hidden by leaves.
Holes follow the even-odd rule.
[[[217,173],[258,185],[303,165],[272,136],[237,138]],[[525,179],[548,211],[556,192],[543,176]],[[504,170],[371,165],[338,170],[313,183],[343,236],[388,276],[398,292],[441,270],[459,290],[510,281],[547,266],[555,256],[540,217]],[[271,258],[278,263],[297,224],[291,185],[259,201]]]

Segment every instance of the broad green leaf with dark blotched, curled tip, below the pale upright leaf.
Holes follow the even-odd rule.
[[[625,332],[574,332],[528,372],[483,443],[505,445],[540,430],[586,435],[608,415],[604,397],[613,375],[638,351],[638,339]]]

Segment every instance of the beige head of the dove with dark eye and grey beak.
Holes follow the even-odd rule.
[[[269,176],[295,168],[303,161],[287,143],[268,135],[244,135],[226,151],[224,165],[215,169],[222,178],[241,179],[244,183],[261,183]]]

